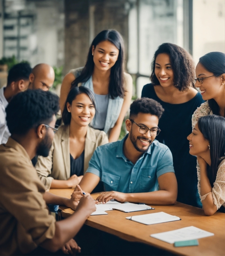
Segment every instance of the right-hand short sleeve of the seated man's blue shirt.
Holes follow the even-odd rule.
[[[157,178],[167,172],[174,172],[173,157],[169,148],[167,148],[159,158],[156,170]]]

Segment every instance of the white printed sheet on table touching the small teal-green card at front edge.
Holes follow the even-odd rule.
[[[213,233],[208,231],[202,230],[197,227],[183,227],[176,230],[162,232],[157,234],[150,235],[156,239],[161,241],[167,242],[169,244],[173,244],[178,241],[187,241],[187,240],[194,240],[199,238],[204,238],[208,236],[214,236]]]

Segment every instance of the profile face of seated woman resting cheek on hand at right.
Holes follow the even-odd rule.
[[[210,153],[209,141],[204,138],[198,129],[198,123],[194,126],[192,133],[188,135],[187,139],[189,140],[189,153],[191,155],[202,157],[206,153]]]

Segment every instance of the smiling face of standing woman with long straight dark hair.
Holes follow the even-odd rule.
[[[92,46],[92,54],[95,66],[101,71],[107,71],[116,63],[119,55],[117,47],[109,41],[102,41]]]

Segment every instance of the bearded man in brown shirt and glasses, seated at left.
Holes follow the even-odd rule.
[[[64,252],[74,253],[71,239],[96,209],[90,196],[83,196],[78,204],[73,198],[45,192],[32,166],[36,153],[48,155],[57,111],[58,97],[41,90],[17,94],[6,108],[11,137],[0,146],[0,255],[28,254],[38,246],[55,252],[65,244]],[[76,211],[55,222],[46,203]]]

